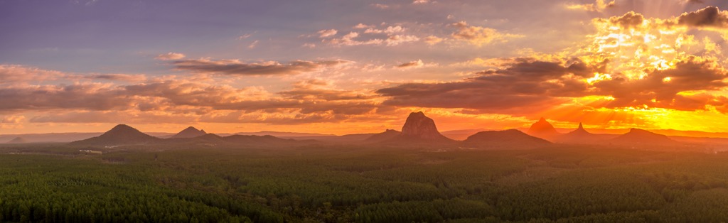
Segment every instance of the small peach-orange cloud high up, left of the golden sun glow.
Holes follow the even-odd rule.
[[[505,42],[508,38],[518,37],[513,34],[500,33],[492,28],[467,25],[465,21],[460,21],[451,25],[457,28],[457,31],[451,34],[453,38],[456,40],[467,41],[475,46],[483,46],[495,41]]]

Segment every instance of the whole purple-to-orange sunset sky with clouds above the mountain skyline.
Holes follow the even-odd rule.
[[[0,134],[728,131],[728,1],[0,0]]]

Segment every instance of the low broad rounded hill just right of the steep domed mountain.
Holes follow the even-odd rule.
[[[523,150],[552,145],[545,139],[532,137],[516,129],[503,131],[480,131],[462,142],[466,147],[484,149]]]

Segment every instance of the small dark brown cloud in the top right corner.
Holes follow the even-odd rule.
[[[718,7],[705,7],[695,12],[686,12],[677,17],[679,25],[689,27],[728,28],[728,12]]]

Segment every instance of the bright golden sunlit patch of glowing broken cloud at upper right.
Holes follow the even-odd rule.
[[[593,65],[606,64],[612,77],[617,74],[635,80],[645,78],[650,70],[675,68],[676,62],[686,56],[685,52],[698,44],[685,28],[668,29],[665,21],[644,19],[641,15],[625,17],[630,20],[625,22],[614,17],[593,20],[598,32],[590,36],[593,41],[582,49],[580,59]],[[598,80],[595,76],[585,81],[593,84]]]

